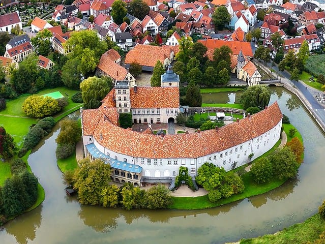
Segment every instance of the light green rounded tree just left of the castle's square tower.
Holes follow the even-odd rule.
[[[82,100],[86,109],[98,108],[110,87],[107,80],[96,76],[88,77],[80,83]]]

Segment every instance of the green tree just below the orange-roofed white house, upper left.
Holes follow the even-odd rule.
[[[43,56],[47,56],[50,52],[52,33],[48,29],[43,29],[31,39],[35,51]]]

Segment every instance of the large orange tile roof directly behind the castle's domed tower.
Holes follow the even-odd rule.
[[[164,64],[164,60],[170,57],[172,50],[170,46],[159,47],[138,44],[127,53],[125,64],[131,64],[133,61],[136,61],[142,66],[155,67],[158,60]]]

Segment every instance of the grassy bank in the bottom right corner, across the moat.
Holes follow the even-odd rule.
[[[284,228],[276,234],[263,235],[257,238],[242,239],[240,244],[303,244],[307,241],[315,241],[319,234],[325,231],[325,220],[318,214],[310,217],[303,223]]]

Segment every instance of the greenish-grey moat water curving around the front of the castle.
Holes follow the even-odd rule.
[[[1,243],[224,243],[274,233],[313,215],[322,189],[325,138],[298,98],[271,88],[279,106],[302,134],[305,160],[296,180],[269,193],[203,210],[132,210],[81,206],[68,197],[56,165],[54,128],[28,163],[45,189],[38,208],[4,225]]]

